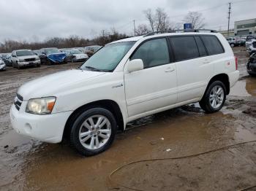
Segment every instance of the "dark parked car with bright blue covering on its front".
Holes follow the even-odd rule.
[[[61,52],[56,47],[42,48],[40,49],[41,55],[39,56],[41,63],[51,65],[54,63],[67,63],[67,55],[65,52]]]

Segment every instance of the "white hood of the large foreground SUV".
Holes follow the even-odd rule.
[[[79,69],[60,71],[27,82],[18,89],[18,94],[23,96],[23,100],[48,96],[58,97],[59,94],[79,88],[81,85],[86,85],[85,82],[103,74],[105,72],[83,71]]]

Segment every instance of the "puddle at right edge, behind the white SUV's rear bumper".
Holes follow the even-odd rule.
[[[256,78],[247,77],[236,82],[230,90],[230,95],[234,96],[256,96]]]

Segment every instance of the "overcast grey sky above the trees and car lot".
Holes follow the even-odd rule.
[[[171,23],[183,23],[189,11],[199,11],[206,28],[227,30],[231,0],[1,0],[0,42],[4,39],[39,42],[53,36],[92,39],[110,28],[128,35],[147,24],[143,11],[165,9]],[[256,0],[231,1],[230,26],[256,18]]]

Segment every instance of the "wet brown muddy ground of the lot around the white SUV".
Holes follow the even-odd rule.
[[[256,78],[246,52],[235,48],[241,77],[225,107],[205,114],[198,104],[154,114],[118,133],[108,151],[81,157],[67,142],[46,144],[12,130],[9,109],[20,85],[80,63],[0,72],[0,190],[241,190],[256,184],[256,142],[205,155],[180,157],[256,140]],[[256,190],[252,188],[251,190]]]

